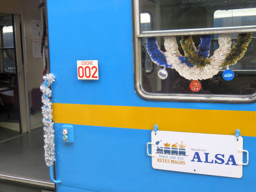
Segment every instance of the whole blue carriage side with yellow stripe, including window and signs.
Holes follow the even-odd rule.
[[[56,190],[255,191],[255,7],[47,0]]]

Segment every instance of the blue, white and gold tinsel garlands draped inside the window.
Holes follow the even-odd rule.
[[[219,48],[209,57],[211,35],[200,35],[198,50],[195,48],[191,36],[182,36],[180,45],[184,51],[182,56],[174,36],[164,37],[164,47],[160,50],[156,38],[147,38],[147,52],[151,60],[160,66],[174,68],[187,79],[211,78],[219,69],[229,64],[235,64],[247,49],[251,40],[251,33],[238,34],[237,43],[231,49],[230,35],[219,35]]]

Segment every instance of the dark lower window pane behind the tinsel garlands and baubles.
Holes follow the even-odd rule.
[[[217,34],[219,35],[219,34]],[[230,34],[234,35],[234,34]],[[213,36],[213,35],[212,35]],[[200,35],[192,35],[192,39],[196,48],[200,43]],[[164,39],[163,37],[156,37],[159,48],[162,51],[164,49]],[[180,54],[184,55],[180,44],[181,36],[176,36],[176,42],[178,45],[178,50]],[[232,38],[232,46],[237,41],[236,38]],[[230,81],[224,80],[222,77],[223,71],[226,69],[224,67],[216,75],[208,79],[200,80],[201,90],[198,92],[192,92],[189,88],[189,83],[191,80],[181,76],[175,69],[166,68],[168,76],[166,79],[161,80],[157,76],[157,71],[162,66],[153,63],[153,69],[151,73],[146,73],[145,64],[147,62],[146,57],[148,53],[145,50],[146,45],[141,45],[141,69],[142,69],[142,88],[146,92],[150,93],[190,93],[190,94],[230,94],[230,95],[243,95],[251,94],[256,92],[256,38],[252,37],[250,43],[248,44],[247,50],[241,59],[237,61],[234,65],[229,65],[229,69],[233,70],[234,78]],[[210,44],[209,57],[212,56],[213,52],[219,47],[217,43],[217,38],[212,38]],[[149,61],[148,61],[149,62]],[[152,62],[152,61],[151,61]]]

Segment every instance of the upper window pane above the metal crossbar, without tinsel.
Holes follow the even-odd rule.
[[[255,0],[138,0],[139,11],[150,10],[154,20],[153,30],[177,30],[211,28],[214,26],[214,16],[231,15],[235,22],[228,26],[255,25]],[[219,12],[218,12],[219,11]],[[223,13],[223,12],[226,13]],[[238,17],[251,16],[241,24]],[[237,18],[237,19],[236,19]],[[222,23],[219,27],[227,26]],[[140,27],[141,32],[147,31]]]

